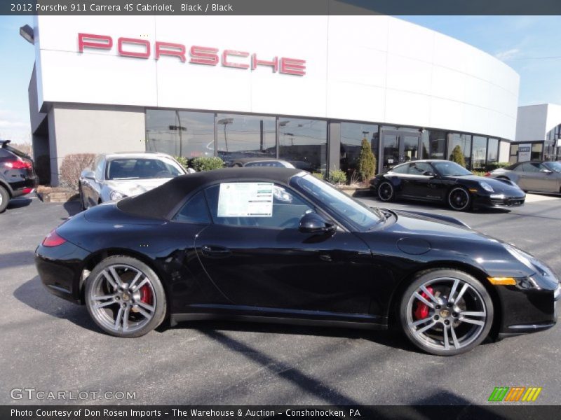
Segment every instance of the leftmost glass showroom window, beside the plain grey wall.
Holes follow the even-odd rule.
[[[184,158],[214,156],[214,113],[147,109],[146,150]]]

